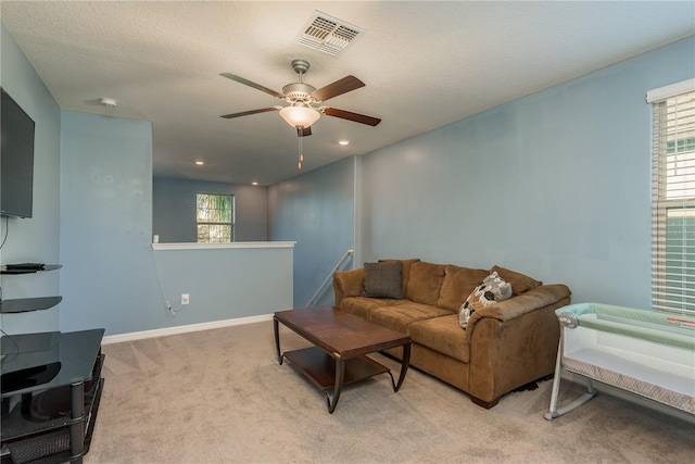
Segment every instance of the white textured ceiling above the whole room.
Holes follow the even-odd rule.
[[[306,172],[695,34],[692,1],[3,0],[0,9],[61,108],[152,122],[155,176],[261,185],[299,174],[296,134],[275,112],[220,118],[281,102],[219,73],[281,91],[296,80],[290,62],[304,59],[304,81],[316,88],[350,74],[366,84],[329,104],[382,123],[323,116],[304,139]],[[339,57],[294,43],[315,10],[366,33]]]

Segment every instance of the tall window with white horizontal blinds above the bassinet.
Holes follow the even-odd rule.
[[[647,93],[653,103],[652,305],[695,315],[695,79]]]

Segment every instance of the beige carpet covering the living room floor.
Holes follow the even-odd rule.
[[[283,350],[308,343],[281,330]],[[692,463],[695,426],[601,394],[545,421],[552,381],[483,410],[410,369],[324,393],[278,365],[273,324],[108,344],[94,463]],[[376,355],[397,373],[394,361]],[[572,398],[578,386],[566,389]]]

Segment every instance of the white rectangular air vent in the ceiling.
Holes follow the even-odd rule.
[[[338,57],[354,43],[365,29],[353,26],[337,17],[315,11],[294,39],[295,43]]]

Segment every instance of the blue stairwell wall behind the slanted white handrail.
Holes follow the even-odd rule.
[[[308,303],[354,247],[354,166],[349,158],[268,189],[270,239],[296,241],[294,308]],[[346,261],[343,268],[351,266]],[[332,304],[332,287],[319,297],[318,304]]]

